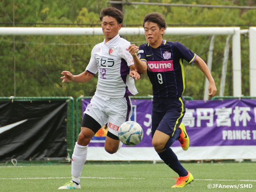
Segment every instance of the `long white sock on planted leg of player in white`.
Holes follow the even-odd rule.
[[[81,146],[76,142],[74,152],[72,154],[71,174],[72,181],[80,183],[84,163],[86,162],[88,146]]]

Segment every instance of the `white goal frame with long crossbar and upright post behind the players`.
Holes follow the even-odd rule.
[[[250,28],[250,32],[255,33],[256,28]],[[120,35],[144,35],[144,28],[121,28]],[[233,64],[233,96],[242,95],[241,78],[241,46],[239,27],[170,27],[167,28],[166,35],[231,35],[232,36],[232,64]],[[38,28],[38,27],[0,27],[0,35],[103,35],[102,28]],[[250,41],[251,43],[251,41]],[[253,42],[256,47],[256,42]],[[251,46],[250,46],[251,50]],[[256,50],[254,48],[254,50]],[[256,73],[256,54],[250,52],[250,74]],[[253,60],[251,60],[253,59]],[[254,62],[254,63],[252,63]],[[252,70],[252,72],[251,72]],[[256,96],[256,89],[252,84],[256,80],[256,75],[250,78],[250,96]]]

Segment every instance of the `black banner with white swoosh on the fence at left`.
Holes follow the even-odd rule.
[[[0,101],[0,161],[67,155],[67,102]]]

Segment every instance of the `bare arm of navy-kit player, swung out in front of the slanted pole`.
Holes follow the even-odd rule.
[[[204,73],[204,75],[206,76],[206,78],[209,81],[209,86],[208,86],[208,96],[209,97],[213,97],[216,92],[217,92],[217,88],[215,86],[215,81],[212,78],[212,74],[208,68],[208,66],[206,65],[206,63],[204,62],[204,60],[202,60],[198,55],[196,56],[196,59],[194,60],[194,63],[200,68],[200,70]]]

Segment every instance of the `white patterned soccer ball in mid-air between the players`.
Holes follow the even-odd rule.
[[[134,121],[126,121],[118,130],[118,138],[125,145],[137,145],[143,138],[142,127]]]

